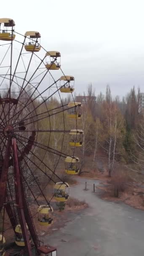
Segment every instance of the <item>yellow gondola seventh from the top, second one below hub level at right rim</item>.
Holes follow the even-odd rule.
[[[78,168],[78,163],[80,162],[78,157],[66,157],[65,159],[65,172],[67,174],[78,174],[79,173],[79,168]]]

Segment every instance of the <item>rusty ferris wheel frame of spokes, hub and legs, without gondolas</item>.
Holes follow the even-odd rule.
[[[13,26],[15,24],[13,24],[13,20],[11,22],[11,27],[8,26],[6,32],[0,27],[1,34],[5,33],[6,36],[6,33],[10,33],[9,36],[11,36],[11,40],[6,40],[6,43],[0,44],[3,53],[0,57],[0,213],[3,213],[2,236],[5,232],[6,211],[14,232],[16,225],[18,223],[21,225],[27,254],[32,255],[29,230],[36,252],[45,253],[46,255],[48,252],[56,251],[56,248],[43,246],[37,236],[32,213],[27,202],[25,187],[31,192],[37,205],[39,205],[39,202],[24,176],[22,165],[32,175],[45,204],[50,205],[51,200],[47,200],[45,197],[43,189],[35,179],[35,173],[29,167],[29,163],[32,163],[35,169],[43,173],[48,182],[52,180],[56,183],[55,176],[63,182],[55,171],[61,157],[69,156],[63,152],[64,136],[69,133],[65,128],[64,118],[64,112],[67,111],[68,104],[63,104],[60,96],[60,79],[55,80],[54,73],[51,72],[53,64],[59,65],[57,57],[54,57],[50,65],[45,68],[45,54],[42,57],[38,56],[35,51],[25,52],[27,36],[14,31]],[[30,39],[34,49],[37,46],[37,39],[38,37]],[[19,45],[19,52],[17,52],[17,45]],[[42,45],[39,44],[38,47],[43,49],[43,53],[47,53]],[[16,55],[14,55],[15,50]],[[26,61],[25,56],[27,56]],[[33,61],[33,59],[36,59],[36,61]],[[59,69],[61,70],[60,66]],[[62,70],[61,72],[65,76]],[[49,85],[48,75],[51,77],[51,84]],[[69,81],[64,81],[62,87],[67,86],[68,83]],[[43,89],[45,85],[46,88]],[[45,96],[45,93],[50,90],[51,94]],[[48,107],[48,101],[55,95],[59,98],[59,105],[51,109]],[[74,101],[73,96],[72,99]],[[40,107],[43,109],[42,111]],[[53,116],[57,117],[59,114],[61,115],[63,129],[53,129],[51,118]],[[48,129],[40,128],[41,120],[48,122]],[[75,128],[77,129],[77,118]],[[47,144],[37,141],[41,133],[48,134]],[[50,147],[53,133],[61,134],[61,149],[59,150]],[[44,156],[49,152],[58,157],[53,169],[44,162],[44,156],[41,158],[35,153],[34,149],[37,148],[45,151]],[[34,158],[37,160],[36,162],[33,160]],[[41,164],[51,172],[51,175],[43,170]]]

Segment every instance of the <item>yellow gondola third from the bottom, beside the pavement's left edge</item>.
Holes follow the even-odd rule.
[[[38,211],[38,221],[42,226],[49,226],[53,222],[52,214],[53,208],[49,205],[40,205],[37,209]]]

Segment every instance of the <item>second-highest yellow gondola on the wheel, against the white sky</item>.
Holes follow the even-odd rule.
[[[27,31],[24,35],[26,38],[26,44],[24,48],[29,52],[38,52],[41,49],[40,46],[40,33],[37,31]]]

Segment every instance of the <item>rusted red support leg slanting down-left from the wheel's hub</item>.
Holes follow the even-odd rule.
[[[11,153],[11,137],[9,136],[8,143],[6,146],[6,151],[5,151],[5,158],[3,160],[1,176],[0,176],[0,212],[3,208],[3,204],[5,203],[6,182],[7,182],[7,177],[8,177],[8,162],[9,162],[9,158],[10,158],[10,153]]]

